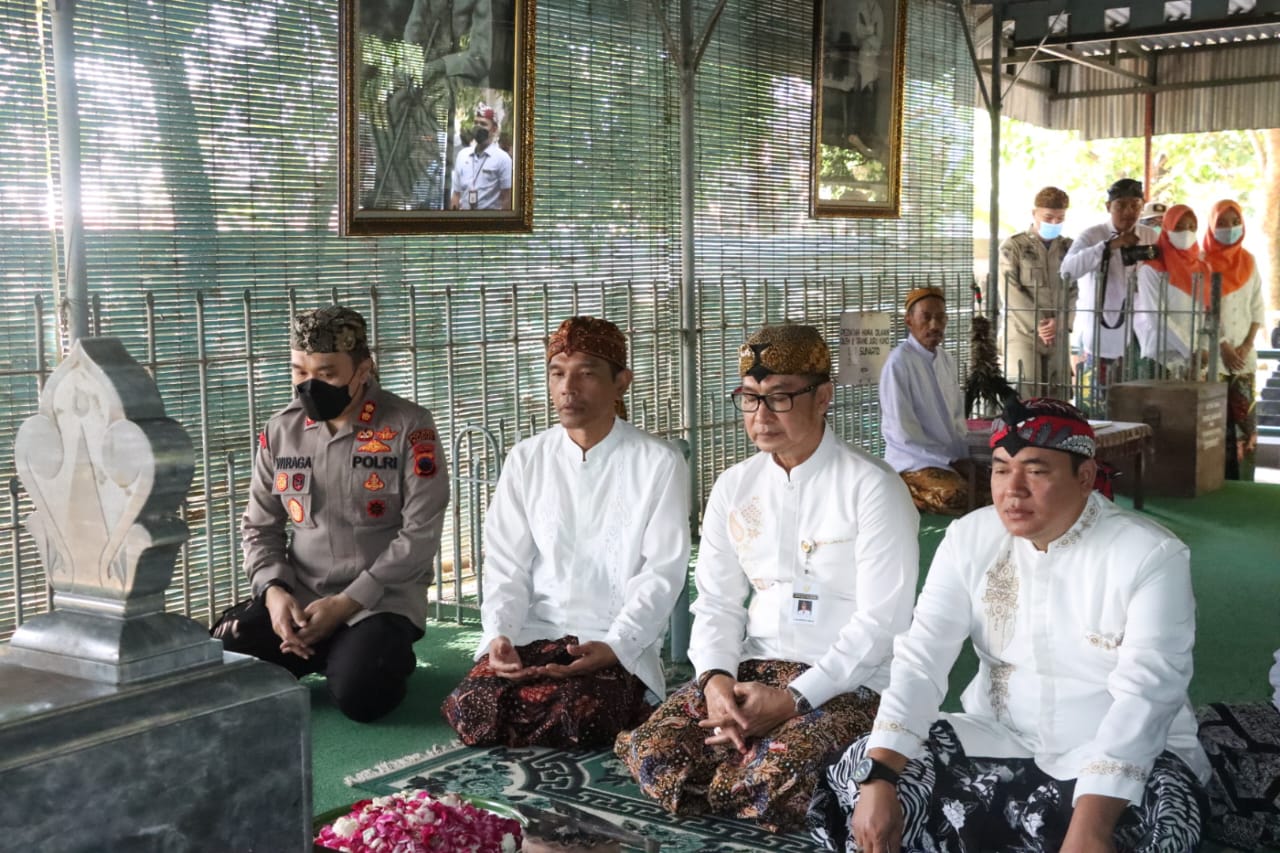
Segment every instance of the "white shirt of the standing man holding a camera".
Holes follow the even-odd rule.
[[[1111,250],[1102,306],[1098,307],[1097,279],[1098,270],[1102,268],[1102,252],[1106,251],[1105,243],[1115,233],[1115,227],[1110,220],[1085,228],[1071,243],[1071,248],[1068,250],[1060,268],[1062,275],[1070,275],[1079,280],[1079,301],[1071,337],[1084,352],[1103,359],[1119,359],[1124,355],[1125,311],[1132,310],[1132,306],[1126,305],[1129,300],[1129,268],[1120,260],[1119,248]],[[1138,243],[1142,246],[1156,242],[1156,231],[1147,225],[1134,225],[1134,233],[1138,234]],[[1093,328],[1098,310],[1102,311],[1098,323],[1101,339],[1094,346]]]

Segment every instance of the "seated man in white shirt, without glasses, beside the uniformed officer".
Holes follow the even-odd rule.
[[[626,338],[589,316],[547,345],[559,425],[512,448],[485,516],[484,637],[443,712],[463,743],[603,747],[666,693],[689,567],[689,469],[617,416]]]

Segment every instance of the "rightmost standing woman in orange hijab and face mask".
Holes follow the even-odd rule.
[[[1220,374],[1228,383],[1226,396],[1226,476],[1253,479],[1252,461],[1257,447],[1257,414],[1253,407],[1253,378],[1258,356],[1253,337],[1266,323],[1262,277],[1253,255],[1244,248],[1244,214],[1235,201],[1213,205],[1204,234],[1204,263],[1222,275],[1222,302],[1219,352]],[[1243,464],[1243,465],[1242,465]]]

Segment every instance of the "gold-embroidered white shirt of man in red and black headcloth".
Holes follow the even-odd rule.
[[[979,665],[964,712],[941,715],[966,754],[1034,758],[1055,779],[1076,779],[1076,798],[1139,802],[1165,749],[1207,780],[1187,699],[1189,564],[1171,533],[1097,493],[1044,552],[1007,533],[995,507],[954,521],[897,639],[868,745],[922,753],[972,639]]]

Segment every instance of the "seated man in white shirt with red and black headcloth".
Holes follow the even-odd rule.
[[[991,446],[995,506],[947,529],[872,734],[814,795],[814,835],[867,853],[1194,850],[1208,762],[1187,546],[1093,492],[1074,406],[1014,401]],[[940,715],[965,640],[978,675],[964,712]]]

